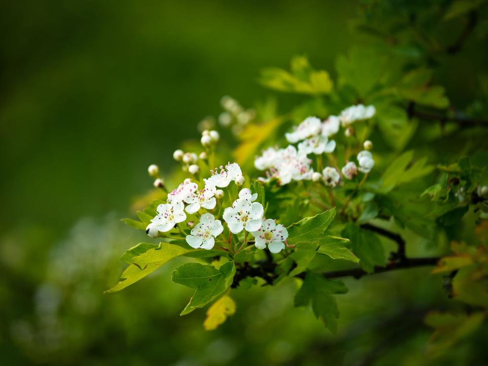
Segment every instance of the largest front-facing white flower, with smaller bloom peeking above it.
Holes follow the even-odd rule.
[[[242,192],[242,190],[241,190]],[[239,192],[243,198],[238,198],[224,210],[223,218],[229,226],[232,234],[238,234],[243,228],[248,231],[256,231],[261,227],[264,209],[259,202],[251,202],[253,195],[251,191]]]

